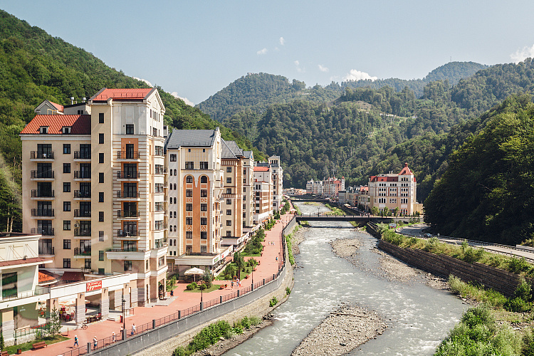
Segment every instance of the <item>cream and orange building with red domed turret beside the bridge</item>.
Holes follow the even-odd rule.
[[[400,214],[413,214],[418,211],[417,182],[408,164],[404,163],[401,172],[379,174],[369,178],[370,209],[386,207],[392,211],[399,208]]]

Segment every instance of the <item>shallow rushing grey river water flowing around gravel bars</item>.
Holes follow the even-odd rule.
[[[318,206],[299,204],[303,214]],[[327,211],[320,206],[320,211]],[[408,283],[388,281],[379,271],[377,240],[350,229],[345,222],[310,221],[300,244],[290,298],[274,310],[275,323],[260,330],[226,355],[290,355],[310,330],[342,302],[376,310],[388,328],[350,355],[432,355],[464,312],[450,293],[426,286],[424,278]],[[355,238],[363,242],[357,265],[334,255],[330,241]]]

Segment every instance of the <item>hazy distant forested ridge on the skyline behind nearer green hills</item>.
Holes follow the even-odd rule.
[[[333,82],[325,87],[315,85],[313,88],[306,88],[304,82],[295,79],[290,83],[288,78],[282,75],[248,73],[199,103],[197,108],[206,112],[212,119],[224,122],[236,113],[247,110],[262,113],[269,105],[290,103],[293,100],[328,102],[337,99],[345,88],[379,89],[389,86],[399,92],[408,87],[419,98],[423,95],[423,88],[427,83],[434,80],[449,80],[451,85],[456,85],[460,79],[468,78],[476,71],[487,67],[473,62],[451,62],[432,70],[423,79],[352,80],[340,84]]]

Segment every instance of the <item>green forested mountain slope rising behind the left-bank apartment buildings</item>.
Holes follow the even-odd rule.
[[[20,231],[21,140],[19,132],[44,99],[61,105],[69,98],[90,98],[101,88],[147,88],[146,83],[117,71],[82,48],[54,38],[0,10],[0,229]],[[207,129],[219,122],[174,98],[161,88],[165,122],[177,128]],[[221,127],[227,140],[250,149],[242,135]],[[255,152],[259,156],[259,152]]]

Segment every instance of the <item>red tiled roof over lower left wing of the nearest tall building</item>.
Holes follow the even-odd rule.
[[[90,135],[91,115],[36,115],[24,130],[23,135],[39,135],[39,127],[48,126],[49,135],[61,134],[61,128],[70,126],[70,135]]]

